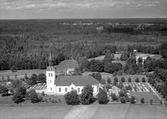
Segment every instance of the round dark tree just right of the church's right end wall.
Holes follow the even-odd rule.
[[[108,96],[105,90],[100,90],[97,94],[97,99],[99,104],[107,104],[108,103]]]

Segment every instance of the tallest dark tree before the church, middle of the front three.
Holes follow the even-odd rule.
[[[90,85],[86,85],[82,89],[82,93],[80,94],[80,101],[84,105],[91,104],[93,102],[93,87]]]

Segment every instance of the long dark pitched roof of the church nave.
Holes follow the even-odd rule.
[[[56,86],[76,86],[96,85],[99,82],[91,76],[59,76],[55,79]]]

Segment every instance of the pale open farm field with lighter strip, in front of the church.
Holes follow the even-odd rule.
[[[0,107],[3,119],[164,119],[167,109],[157,105],[55,105]]]

